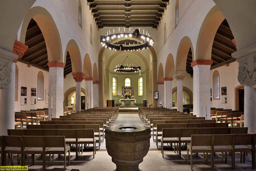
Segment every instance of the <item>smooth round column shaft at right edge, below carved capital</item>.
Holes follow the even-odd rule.
[[[256,133],[256,92],[249,86],[244,86],[244,127],[248,132]]]

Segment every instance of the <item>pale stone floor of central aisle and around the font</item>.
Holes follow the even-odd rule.
[[[114,125],[120,124],[137,124],[143,125],[140,118],[138,117],[137,112],[133,113],[121,113],[119,114],[118,119],[115,121]],[[80,171],[112,171],[116,168],[115,164],[111,161],[111,157],[108,155],[105,148],[105,141],[101,142],[99,149],[98,140],[96,143],[97,147],[95,158],[92,155],[92,146],[86,147],[86,150],[83,151],[83,154],[79,154],[76,158],[74,148],[71,148],[71,163],[67,165],[67,169],[79,169]],[[185,147],[185,146],[183,146]],[[159,139],[158,148],[161,148],[161,143]],[[151,170],[190,170],[190,164],[187,164],[187,152],[186,148],[182,149],[182,156],[178,157],[177,153],[174,153],[173,148],[165,146],[164,158],[162,157],[160,149],[156,148],[156,142],[153,142],[151,137],[150,150],[148,154],[144,157],[143,162],[139,165],[139,168],[143,171]],[[190,154],[189,154],[190,158]],[[68,157],[67,157],[68,159]],[[49,166],[49,156],[47,155],[47,170],[51,170],[55,167],[64,168],[64,156],[58,158],[58,155],[55,155],[54,165]],[[246,162],[240,163],[240,154],[236,154],[235,158],[235,170],[254,170],[252,169],[252,159],[251,154],[249,153],[246,156]],[[190,160],[189,160],[190,162]],[[68,164],[68,162],[67,162]],[[10,158],[7,158],[7,166],[10,166]],[[17,165],[17,155],[14,156],[14,165]],[[36,155],[36,165],[31,166],[31,155],[28,155],[26,158],[26,166],[29,166],[29,170],[42,170],[42,159],[40,155]],[[199,154],[198,157],[193,155],[193,170],[211,170],[210,160],[209,164],[203,164],[202,155]],[[231,156],[228,155],[228,160],[226,164],[221,163],[221,154],[217,153],[215,156],[215,170],[232,170],[231,169]]]

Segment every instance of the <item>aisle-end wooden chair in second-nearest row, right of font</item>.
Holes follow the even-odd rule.
[[[162,131],[162,137],[161,137],[161,153],[162,156],[164,157],[164,143],[170,143],[172,147],[172,143],[174,143],[174,153],[175,153],[175,143],[178,143],[179,140],[177,137],[179,137],[180,134],[180,129],[179,128],[163,128]],[[178,151],[178,150],[177,150]]]

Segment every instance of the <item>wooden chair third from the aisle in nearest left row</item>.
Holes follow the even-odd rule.
[[[2,136],[3,142],[2,142],[2,154],[1,155],[1,165],[6,166],[6,154],[12,154],[11,155],[11,164],[13,165],[13,154],[18,154],[18,164],[19,164],[19,155],[21,160],[21,166],[24,166],[23,164],[23,146],[22,146],[22,139],[21,136]]]

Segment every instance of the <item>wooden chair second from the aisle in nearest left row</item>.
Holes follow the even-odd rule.
[[[31,130],[30,130],[31,131]],[[23,144],[23,166],[25,166],[25,154],[31,154],[31,165],[35,165],[36,157],[35,154],[41,154],[44,156],[44,143],[43,136],[22,136],[22,144]],[[26,147],[26,148],[25,148]],[[44,168],[45,157],[42,157],[42,166]]]

